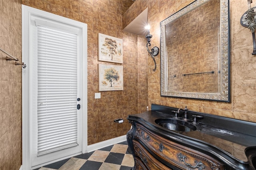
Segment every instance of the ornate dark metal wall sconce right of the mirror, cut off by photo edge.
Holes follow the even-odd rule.
[[[240,24],[252,32],[252,41],[253,41],[253,52],[252,55],[256,54],[256,40],[255,40],[255,29],[256,29],[256,7],[251,7],[252,0],[247,0],[248,2],[248,11],[246,11],[241,19]]]

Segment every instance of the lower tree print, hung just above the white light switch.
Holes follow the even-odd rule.
[[[99,91],[124,90],[122,65],[98,64]]]

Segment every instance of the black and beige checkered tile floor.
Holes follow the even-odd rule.
[[[125,141],[35,170],[131,170],[133,166],[134,159]]]

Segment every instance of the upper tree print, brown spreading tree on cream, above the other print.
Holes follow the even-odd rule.
[[[123,63],[123,40],[99,33],[98,57],[99,61]]]

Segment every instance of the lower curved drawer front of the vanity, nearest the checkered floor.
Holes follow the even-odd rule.
[[[133,146],[136,170],[170,170],[147,152],[140,142],[133,141]]]

